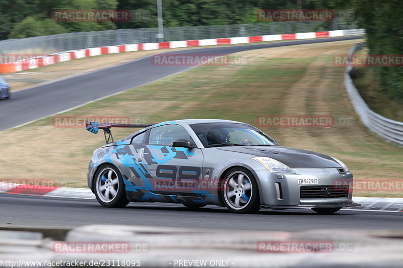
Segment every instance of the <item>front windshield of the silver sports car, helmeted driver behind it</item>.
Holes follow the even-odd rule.
[[[238,123],[201,123],[190,125],[205,147],[231,145],[280,145],[259,129]]]

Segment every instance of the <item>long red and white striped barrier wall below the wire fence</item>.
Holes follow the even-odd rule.
[[[45,57],[38,57],[26,61],[17,61],[13,63],[0,64],[0,73],[13,73],[34,69],[42,66],[51,65],[58,62],[64,62],[73,59],[84,57],[91,57],[103,54],[113,54],[121,52],[139,51],[139,50],[155,50],[165,48],[182,48],[182,47],[195,47],[195,46],[215,46],[215,45],[233,45],[233,44],[247,44],[253,42],[267,42],[267,41],[281,41],[281,40],[297,40],[297,39],[312,39],[323,37],[338,37],[345,35],[364,34],[363,29],[355,30],[336,30],[325,32],[311,32],[311,33],[297,33],[297,34],[275,34],[275,35],[262,35],[251,37],[230,37],[230,38],[216,38],[216,39],[201,39],[201,40],[187,40],[187,41],[171,41],[161,43],[144,43],[144,44],[130,44],[120,46],[108,47],[95,47],[88,49],[81,49],[76,51],[66,51]]]

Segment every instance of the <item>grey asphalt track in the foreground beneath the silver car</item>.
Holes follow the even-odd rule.
[[[126,224],[181,228],[261,231],[312,229],[403,229],[403,213],[341,210],[319,215],[310,209],[261,210],[233,214],[207,206],[191,210],[180,204],[130,203],[104,208],[96,200],[0,194],[0,226],[75,227],[86,224]]]

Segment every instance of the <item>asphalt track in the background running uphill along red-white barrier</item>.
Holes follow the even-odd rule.
[[[168,54],[225,55],[244,50],[352,40],[363,36],[345,36],[310,40],[283,41],[211,48],[186,49]],[[158,51],[156,51],[156,54]],[[28,90],[12,93],[12,99],[0,102],[0,131],[65,111],[87,102],[129,90],[159,78],[184,71],[192,66],[156,66],[151,57],[145,57],[59,80]]]

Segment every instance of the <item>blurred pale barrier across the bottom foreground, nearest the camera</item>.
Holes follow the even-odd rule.
[[[1,261],[15,261],[14,267],[28,267],[33,266],[32,261],[42,261],[41,267],[48,267],[43,265],[45,261],[63,261],[70,263],[64,266],[77,266],[75,263],[82,261],[84,264],[80,266],[83,267],[401,267],[402,238],[403,231],[393,230],[266,232],[87,225],[69,231],[65,241],[43,239],[35,232],[0,232],[0,265]],[[129,243],[130,250],[117,253],[106,248],[102,253],[91,250],[82,252],[85,245],[113,243]],[[287,250],[271,248],[270,251],[262,247],[262,243],[327,243],[331,247],[319,250],[310,248],[307,251],[285,247]],[[147,247],[134,247],[144,244]],[[55,245],[70,247],[63,249]],[[74,245],[81,247],[77,249]],[[4,263],[2,266],[7,267]]]

